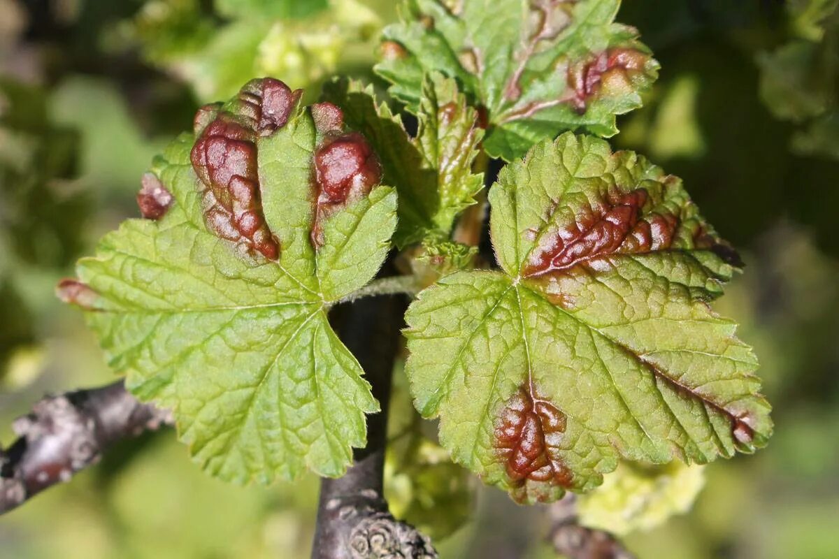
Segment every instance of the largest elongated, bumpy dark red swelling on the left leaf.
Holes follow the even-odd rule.
[[[300,93],[272,78],[251,80],[234,101],[201,107],[195,115],[191,160],[206,225],[269,260],[279,257],[279,245],[263,215],[256,140],[285,126]]]

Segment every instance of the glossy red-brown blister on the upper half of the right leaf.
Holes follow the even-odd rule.
[[[679,220],[675,215],[650,214],[642,219],[648,194],[635,189],[614,194],[576,221],[545,236],[534,250],[524,275],[562,272],[584,261],[616,252],[647,252],[670,247]]]

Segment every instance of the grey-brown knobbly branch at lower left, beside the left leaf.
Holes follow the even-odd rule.
[[[172,421],[137,401],[122,380],[47,396],[13,423],[18,440],[0,449],[0,514],[96,463],[118,440]]]

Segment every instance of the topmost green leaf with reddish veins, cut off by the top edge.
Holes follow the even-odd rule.
[[[484,148],[512,161],[574,129],[618,132],[615,115],[641,106],[658,63],[633,28],[613,23],[620,0],[407,0],[384,30],[376,71],[418,111],[425,73],[440,71],[487,111]]]

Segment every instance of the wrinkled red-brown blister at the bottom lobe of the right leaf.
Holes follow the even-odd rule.
[[[515,488],[513,499],[526,500],[529,481],[571,487],[571,469],[555,456],[565,422],[564,413],[524,388],[507,402],[496,424],[494,441]]]

